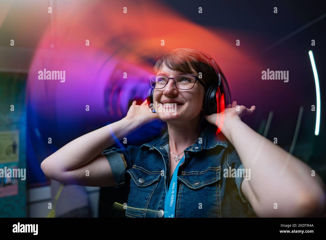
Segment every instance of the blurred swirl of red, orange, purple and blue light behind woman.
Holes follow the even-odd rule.
[[[27,159],[30,167],[37,166],[29,167],[30,184],[45,181],[39,164],[47,156],[83,134],[122,119],[133,100],[138,104],[145,100],[155,60],[169,50],[205,51],[227,79],[261,69],[215,29],[191,23],[158,2],[69,1],[54,6],[52,14],[27,82]],[[157,18],[162,15],[164,20]],[[233,71],[235,58],[237,71]],[[44,69],[65,71],[65,82],[38,79]],[[147,124],[130,135],[127,144],[149,141],[164,129],[164,122]]]

